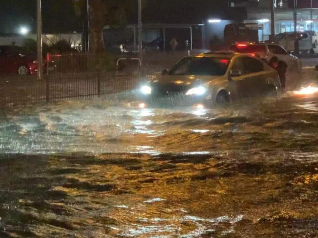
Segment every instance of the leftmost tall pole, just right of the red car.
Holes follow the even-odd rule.
[[[41,0],[37,0],[37,56],[38,56],[38,79],[43,77],[42,64],[42,7]],[[47,62],[48,63],[48,62]]]

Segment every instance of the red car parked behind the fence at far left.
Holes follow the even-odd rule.
[[[37,73],[36,54],[20,46],[0,46],[0,74],[27,75]]]

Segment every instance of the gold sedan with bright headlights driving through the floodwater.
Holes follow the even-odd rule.
[[[140,88],[140,99],[145,104],[168,97],[211,106],[278,95],[281,90],[277,72],[249,54],[211,52],[189,56],[163,74]]]

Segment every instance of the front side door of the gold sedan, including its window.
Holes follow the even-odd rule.
[[[254,96],[254,86],[251,84],[251,76],[246,74],[246,65],[243,56],[234,59],[230,72],[232,70],[240,70],[242,73],[240,76],[232,76],[229,82],[232,99],[237,100]]]

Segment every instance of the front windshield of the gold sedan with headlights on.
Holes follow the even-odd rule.
[[[212,75],[222,76],[228,67],[229,59],[214,57],[190,57],[177,63],[169,75]]]

